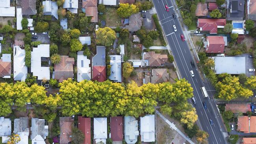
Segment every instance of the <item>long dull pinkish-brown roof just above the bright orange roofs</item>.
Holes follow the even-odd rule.
[[[246,113],[251,111],[250,104],[247,103],[226,103],[225,111],[232,111],[233,113]]]

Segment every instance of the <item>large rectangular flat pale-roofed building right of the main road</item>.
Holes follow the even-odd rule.
[[[215,73],[245,74],[245,57],[214,57]]]

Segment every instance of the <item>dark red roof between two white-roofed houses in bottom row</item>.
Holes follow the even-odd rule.
[[[115,116],[110,118],[110,132],[111,139],[115,141],[122,141],[123,139],[123,121],[122,116]]]

